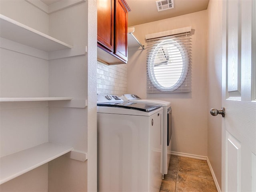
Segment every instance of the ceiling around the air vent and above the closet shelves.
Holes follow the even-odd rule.
[[[50,5],[61,0],[41,1]],[[128,13],[128,26],[134,26],[206,10],[209,0],[174,0],[173,9],[160,12],[157,11],[156,0],[126,0],[126,2],[131,9]]]

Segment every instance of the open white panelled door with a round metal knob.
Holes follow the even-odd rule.
[[[223,192],[256,192],[255,10],[255,0],[223,1]]]

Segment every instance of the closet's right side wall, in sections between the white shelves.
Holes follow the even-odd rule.
[[[84,2],[50,14],[49,34],[73,44],[74,47],[84,45],[89,47],[86,36],[88,12],[84,11],[87,9],[88,2]],[[88,85],[87,63],[89,63],[87,56],[50,60],[49,95],[73,95],[74,98],[87,98],[89,95],[86,87]],[[94,65],[93,61],[91,61],[91,65]],[[65,86],[60,86],[61,84],[65,84]],[[93,90],[91,91],[93,92]],[[49,141],[72,146],[74,150],[88,152],[87,117],[89,102],[88,98],[87,108],[50,107],[48,117]],[[94,119],[94,117],[90,116],[90,119]],[[88,164],[87,161],[80,162],[65,156],[49,162],[48,192],[86,191],[88,187]]]

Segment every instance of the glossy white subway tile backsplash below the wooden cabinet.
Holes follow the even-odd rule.
[[[97,93],[122,95],[127,93],[127,66],[105,65],[98,62]]]

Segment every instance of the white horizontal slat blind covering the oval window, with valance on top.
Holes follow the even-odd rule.
[[[190,31],[188,27],[146,36],[148,93],[191,91]]]

